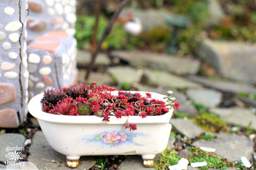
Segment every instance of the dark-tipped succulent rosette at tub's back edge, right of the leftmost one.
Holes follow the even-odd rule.
[[[67,96],[76,99],[76,97],[86,98],[89,93],[89,89],[87,89],[86,85],[83,83],[76,83],[75,85],[70,85],[70,87],[66,90]]]

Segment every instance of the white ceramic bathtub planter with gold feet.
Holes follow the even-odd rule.
[[[133,92],[133,91],[131,91]],[[134,92],[133,92],[134,93]],[[151,93],[151,92],[150,92]],[[117,91],[111,92],[117,95]],[[146,96],[145,92],[140,92]],[[151,93],[152,98],[166,101],[164,95]],[[124,129],[127,117],[117,119],[110,116],[110,122],[97,116],[55,115],[42,111],[43,94],[33,97],[28,110],[38,119],[41,129],[51,147],[67,156],[68,167],[78,167],[80,156],[96,155],[142,155],[143,165],[152,167],[155,155],[165,150],[172,125],[169,123],[173,109],[161,116],[130,116],[129,123],[137,130]],[[118,136],[120,140],[110,143],[105,136]],[[120,136],[120,137],[119,137]]]

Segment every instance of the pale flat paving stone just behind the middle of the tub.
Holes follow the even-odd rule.
[[[118,84],[140,82],[142,73],[131,67],[110,67],[108,72],[116,79]]]

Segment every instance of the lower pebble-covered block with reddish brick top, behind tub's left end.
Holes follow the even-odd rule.
[[[49,31],[28,46],[29,98],[44,89],[63,88],[77,81],[76,39],[64,31]]]

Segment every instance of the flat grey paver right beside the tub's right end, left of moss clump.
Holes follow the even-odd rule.
[[[198,125],[195,125],[190,119],[176,118],[171,119],[170,122],[179,133],[187,136],[189,139],[194,139],[201,133],[204,133],[204,130]]]

